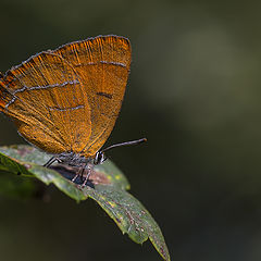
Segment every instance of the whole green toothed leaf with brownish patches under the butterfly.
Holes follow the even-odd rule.
[[[46,185],[52,183],[76,201],[89,197],[113,219],[123,234],[128,234],[129,238],[138,244],[149,238],[161,257],[170,260],[160,227],[145,207],[126,191],[129,189],[126,177],[110,160],[94,167],[90,183],[83,188],[71,182],[76,172],[75,167],[64,165],[44,167],[42,164],[49,159],[50,156],[30,146],[0,147],[0,183],[7,173],[15,174],[16,178],[20,174],[21,179],[27,177],[32,181],[36,177]],[[24,186],[24,189],[30,188],[30,185]],[[0,192],[4,186],[7,186],[4,183],[0,185]]]

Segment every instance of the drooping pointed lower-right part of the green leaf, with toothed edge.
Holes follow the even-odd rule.
[[[127,233],[138,244],[149,238],[162,258],[171,260],[160,227],[146,208],[130,194],[104,185],[97,185],[95,189],[86,187],[84,192],[101,206],[123,234]]]

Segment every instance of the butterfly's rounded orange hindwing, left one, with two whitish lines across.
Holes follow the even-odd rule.
[[[90,132],[87,95],[74,69],[42,52],[11,69],[0,79],[0,108],[18,133],[51,153],[84,148]]]

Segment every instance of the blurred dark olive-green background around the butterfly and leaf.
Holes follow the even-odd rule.
[[[69,41],[130,39],[109,157],[159,223],[173,260],[261,260],[258,1],[1,0],[0,71]],[[25,144],[1,115],[0,145]],[[0,196],[1,260],[161,260],[91,200]]]

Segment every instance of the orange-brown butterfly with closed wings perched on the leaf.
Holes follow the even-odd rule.
[[[121,110],[132,48],[125,37],[98,36],[42,51],[0,75],[0,111],[29,144],[70,165],[99,164]]]

